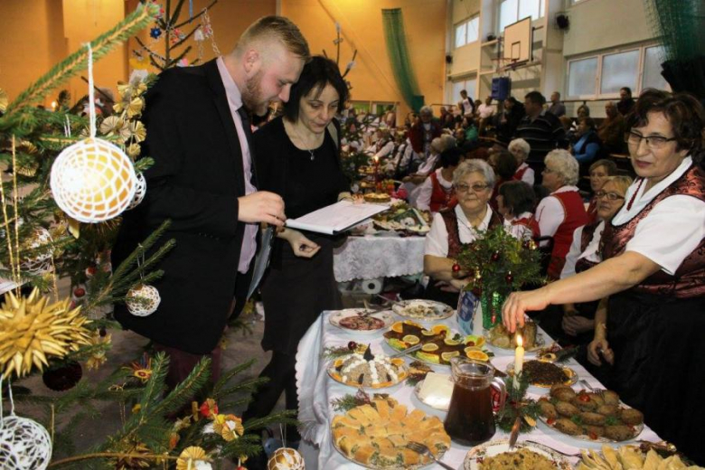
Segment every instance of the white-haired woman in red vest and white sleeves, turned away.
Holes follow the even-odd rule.
[[[553,238],[548,277],[558,279],[573,241],[573,232],[587,223],[583,199],[578,193],[578,161],[567,150],[546,155],[541,184],[550,191],[536,208],[541,237]]]

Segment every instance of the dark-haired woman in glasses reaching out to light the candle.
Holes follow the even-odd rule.
[[[503,307],[514,331],[524,312],[608,297],[601,344],[622,400],[700,465],[705,447],[705,110],[691,95],[647,89],[629,115],[638,178],[602,234],[605,261]]]

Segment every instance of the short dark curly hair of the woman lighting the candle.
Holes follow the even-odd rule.
[[[649,113],[663,113],[673,129],[676,151],[690,150],[695,162],[700,162],[703,153],[703,130],[705,109],[690,93],[669,93],[661,89],[644,89],[636,101],[634,110],[626,118],[627,129],[644,127]]]

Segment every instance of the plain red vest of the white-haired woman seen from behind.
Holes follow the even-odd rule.
[[[565,216],[560,222],[558,230],[553,235],[553,251],[550,253],[548,276],[559,279],[560,271],[566,264],[566,255],[573,242],[573,232],[580,226],[587,224],[587,212],[583,200],[577,191],[551,194],[563,205]]]

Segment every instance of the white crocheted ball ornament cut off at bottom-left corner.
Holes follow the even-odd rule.
[[[0,468],[44,470],[52,459],[52,438],[41,424],[10,415],[0,422]]]

